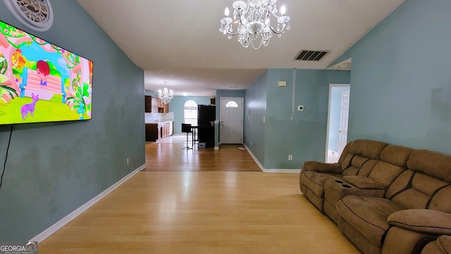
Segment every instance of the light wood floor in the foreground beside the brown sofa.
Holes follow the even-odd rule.
[[[298,176],[140,171],[39,243],[39,254],[359,253],[304,198]]]

